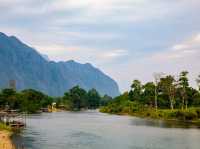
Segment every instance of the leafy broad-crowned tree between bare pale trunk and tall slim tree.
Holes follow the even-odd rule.
[[[176,90],[176,84],[175,79],[173,76],[168,75],[164,78],[160,79],[159,82],[159,88],[163,92],[163,94],[168,96],[170,108],[171,110],[174,109],[174,103],[175,103],[175,90]]]

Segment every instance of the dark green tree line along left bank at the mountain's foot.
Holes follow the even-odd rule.
[[[86,91],[79,86],[75,86],[62,97],[51,97],[40,91],[26,89],[17,92],[7,88],[0,91],[0,110],[17,109],[21,112],[36,113],[41,108],[51,106],[56,102],[57,108],[65,110],[96,109],[105,105],[111,97],[103,97],[95,90]]]

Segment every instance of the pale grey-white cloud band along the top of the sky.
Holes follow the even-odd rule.
[[[70,18],[72,21],[82,23],[95,22],[99,19],[106,22],[141,22],[162,19],[200,4],[198,0],[156,1],[154,3],[149,0],[0,0],[0,3],[0,8],[7,10],[4,13],[5,18],[45,17],[49,14],[58,16],[54,18],[55,21],[59,18],[63,20]],[[70,12],[76,13],[79,10],[84,11],[76,15],[75,19],[73,15],[60,15],[63,12],[70,14]]]

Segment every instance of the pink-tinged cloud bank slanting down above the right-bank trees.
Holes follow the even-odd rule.
[[[163,72],[178,76],[183,70],[189,71],[190,85],[196,87],[195,79],[200,74],[200,42],[199,34],[171,46],[170,48],[153,54],[146,54],[126,63],[118,64],[118,69],[107,68],[121,84],[121,90],[130,88],[132,80],[139,79],[143,83],[153,81],[154,72]]]

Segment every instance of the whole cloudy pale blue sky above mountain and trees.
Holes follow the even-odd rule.
[[[0,0],[0,32],[54,61],[92,63],[120,90],[134,79],[200,74],[199,0]]]

